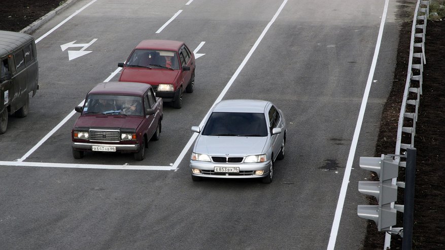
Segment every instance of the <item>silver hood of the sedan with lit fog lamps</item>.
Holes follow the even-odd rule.
[[[264,154],[267,136],[207,136],[196,140],[194,152],[207,155],[248,156]]]

